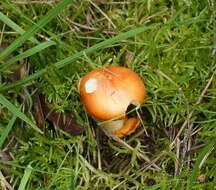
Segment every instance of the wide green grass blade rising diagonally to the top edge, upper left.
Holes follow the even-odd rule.
[[[10,46],[8,46],[3,52],[0,53],[0,60],[11,54],[16,48],[20,47],[27,39],[32,37],[39,29],[44,27],[49,21],[55,18],[69,3],[71,0],[64,0],[60,2],[55,8],[51,9],[49,13],[41,20],[29,28],[22,36],[17,38]]]

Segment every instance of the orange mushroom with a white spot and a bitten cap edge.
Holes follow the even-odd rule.
[[[146,94],[142,79],[132,70],[120,66],[93,70],[81,78],[79,93],[89,114],[107,132],[122,138],[139,126],[137,116],[126,114],[130,104],[139,108]]]

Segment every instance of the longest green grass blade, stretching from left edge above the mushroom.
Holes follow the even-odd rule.
[[[62,68],[64,66],[68,65],[68,64],[73,63],[74,61],[76,61],[77,59],[79,59],[80,57],[82,57],[83,55],[87,55],[87,54],[93,53],[93,52],[95,52],[98,49],[106,48],[107,46],[110,46],[112,44],[120,42],[120,41],[122,41],[124,39],[130,38],[132,36],[135,36],[136,34],[139,34],[141,32],[153,29],[153,28],[155,28],[157,26],[160,26],[160,27],[162,27],[162,26],[171,27],[171,26],[180,26],[180,25],[184,25],[184,24],[192,24],[192,23],[203,22],[203,21],[205,21],[205,20],[188,19],[188,20],[185,20],[185,21],[182,21],[182,22],[175,22],[174,24],[160,24],[160,25],[156,24],[156,25],[151,25],[151,26],[142,26],[142,27],[130,30],[128,32],[119,34],[119,35],[117,35],[117,36],[115,36],[113,38],[107,39],[105,41],[99,42],[99,43],[95,44],[94,46],[92,46],[90,48],[87,48],[85,50],[82,50],[82,51],[74,54],[73,56],[70,56],[70,57],[68,57],[66,59],[63,59],[63,60],[61,60],[59,62],[56,62],[54,64],[54,66],[56,68]],[[46,73],[50,68],[51,68],[50,66],[46,67],[46,68],[38,71],[35,74],[32,74],[32,75],[27,76],[27,77],[24,77],[21,80],[16,81],[16,82],[14,82],[12,84],[5,85],[5,86],[3,86],[3,87],[0,88],[0,92],[5,91],[5,90],[9,90],[11,88],[23,85],[23,84],[25,84],[25,83],[27,83],[29,81],[37,79],[40,76],[42,76],[44,73]]]

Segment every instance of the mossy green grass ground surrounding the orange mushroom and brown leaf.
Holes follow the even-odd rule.
[[[0,2],[1,188],[215,189],[214,1],[41,2]],[[79,98],[79,79],[104,65],[145,83],[142,126],[123,139],[132,149],[106,137]],[[50,122],[38,133],[32,86],[84,134]]]

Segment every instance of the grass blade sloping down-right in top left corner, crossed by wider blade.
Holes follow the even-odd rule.
[[[0,20],[5,23],[7,26],[9,26],[10,28],[12,28],[13,30],[15,30],[16,32],[20,33],[20,34],[24,34],[25,30],[23,30],[19,25],[17,25],[14,21],[12,21],[10,18],[8,18],[6,15],[4,15],[3,13],[0,12]],[[37,41],[36,38],[31,37],[29,38],[29,40],[32,43],[36,43],[38,44],[39,42]]]

